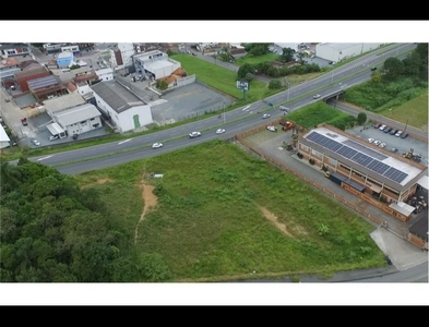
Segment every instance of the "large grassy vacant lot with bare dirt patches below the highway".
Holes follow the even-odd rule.
[[[372,226],[295,177],[219,140],[76,177],[100,187],[132,229],[144,172],[157,205],[138,230],[139,251],[158,254],[171,281],[236,280],[384,266]],[[130,230],[130,235],[133,230]],[[255,272],[253,272],[255,271]]]

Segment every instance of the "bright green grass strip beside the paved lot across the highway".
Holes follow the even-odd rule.
[[[236,72],[189,55],[174,55],[171,58],[180,61],[188,74],[195,74],[199,81],[205,83],[210,87],[228,94],[238,100],[243,98],[242,90],[237,89]],[[278,90],[270,90],[265,83],[253,80],[250,83],[249,92],[246,93],[246,102],[259,101],[275,93],[278,93]]]

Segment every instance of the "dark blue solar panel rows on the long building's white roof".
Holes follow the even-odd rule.
[[[346,142],[339,143],[334,140],[331,140],[322,134],[319,134],[318,132],[311,132],[308,136],[307,140],[314,142],[325,148],[329,148],[330,150],[347,158],[350,159],[351,161],[359,164],[360,166],[364,166],[368,168],[369,170],[372,170],[373,172],[377,172],[392,181],[395,181],[397,183],[401,183],[408,174],[393,168],[392,166],[385,165],[381,162],[378,159],[385,159],[388,158],[386,156],[377,153],[376,150],[366,148],[365,146],[353,142],[350,140],[347,141],[348,144],[353,145],[355,147],[360,149],[355,149],[351,148],[347,145],[345,145]],[[365,148],[365,153],[364,149]],[[378,154],[378,156],[373,156],[373,154]],[[377,159],[376,159],[377,157]]]

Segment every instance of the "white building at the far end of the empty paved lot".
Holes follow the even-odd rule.
[[[135,55],[133,62],[139,74],[153,80],[167,77],[181,68],[180,62],[168,58],[167,53],[159,50]]]

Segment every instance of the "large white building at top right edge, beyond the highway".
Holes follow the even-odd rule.
[[[349,58],[374,50],[383,44],[318,44],[315,56],[319,58],[339,62]]]

